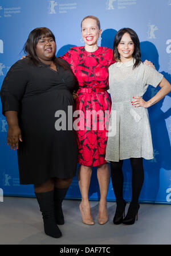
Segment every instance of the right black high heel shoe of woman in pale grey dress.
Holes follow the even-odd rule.
[[[123,219],[123,224],[126,225],[132,225],[135,223],[135,220],[138,220],[138,211],[140,209],[139,203],[136,205],[133,205],[133,203],[130,203],[128,208],[128,213],[126,217]]]

